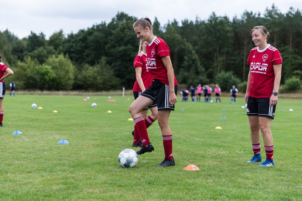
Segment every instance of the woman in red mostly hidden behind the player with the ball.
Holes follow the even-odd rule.
[[[133,85],[133,95],[134,99],[137,99],[138,96],[141,95],[143,91],[146,90],[151,85],[151,82],[153,81],[152,77],[149,74],[149,70],[146,66],[146,57],[147,57],[147,51],[146,51],[146,45],[148,42],[146,41],[140,41],[140,47],[138,51],[138,55],[135,57],[133,61],[133,66],[135,69],[135,83]],[[148,109],[150,108],[152,114],[148,115]],[[146,128],[151,126],[153,122],[157,119],[157,105],[156,103],[152,103],[151,105],[143,108],[140,111],[140,114],[143,116],[143,119],[146,124]],[[136,124],[134,124],[134,130],[132,131],[134,140],[133,140],[133,147],[142,147],[143,144],[140,142],[140,135],[137,130]]]

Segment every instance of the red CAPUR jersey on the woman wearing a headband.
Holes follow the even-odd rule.
[[[270,44],[263,50],[255,47],[249,53],[247,64],[252,74],[249,96],[254,98],[270,98],[275,81],[273,65],[282,64],[279,50]]]

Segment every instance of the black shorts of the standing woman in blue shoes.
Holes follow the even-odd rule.
[[[258,115],[259,117],[268,117],[274,119],[276,105],[269,105],[270,98],[250,97],[247,101],[246,115]]]

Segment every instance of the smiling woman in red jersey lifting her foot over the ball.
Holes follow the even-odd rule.
[[[148,105],[157,103],[158,124],[162,131],[162,139],[165,151],[165,159],[157,167],[175,165],[172,156],[172,132],[168,120],[171,111],[177,101],[177,80],[170,59],[170,49],[165,41],[153,35],[153,27],[149,18],[139,19],[133,24],[133,29],[143,42],[148,42],[147,68],[154,79],[152,85],[139,96],[129,108],[129,112],[137,125],[143,147],[137,154],[152,152],[154,147],[149,141],[146,125],[140,111]]]

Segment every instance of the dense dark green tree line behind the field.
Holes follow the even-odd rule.
[[[25,90],[114,90],[131,89],[135,81],[133,59],[139,39],[132,25],[137,17],[118,12],[108,23],[92,25],[78,33],[63,30],[46,39],[34,33],[19,39],[8,29],[0,32],[2,60],[13,71],[10,79]],[[173,20],[161,26],[155,18],[153,33],[164,39],[178,83],[197,86],[218,83],[222,90],[235,84],[246,86],[247,57],[255,47],[250,31],[267,27],[268,43],[279,49],[283,58],[281,84],[287,90],[301,85],[302,14],[289,8],[282,14],[275,5],[263,15],[244,11],[230,20],[212,13]],[[294,89],[293,89],[294,90]]]

